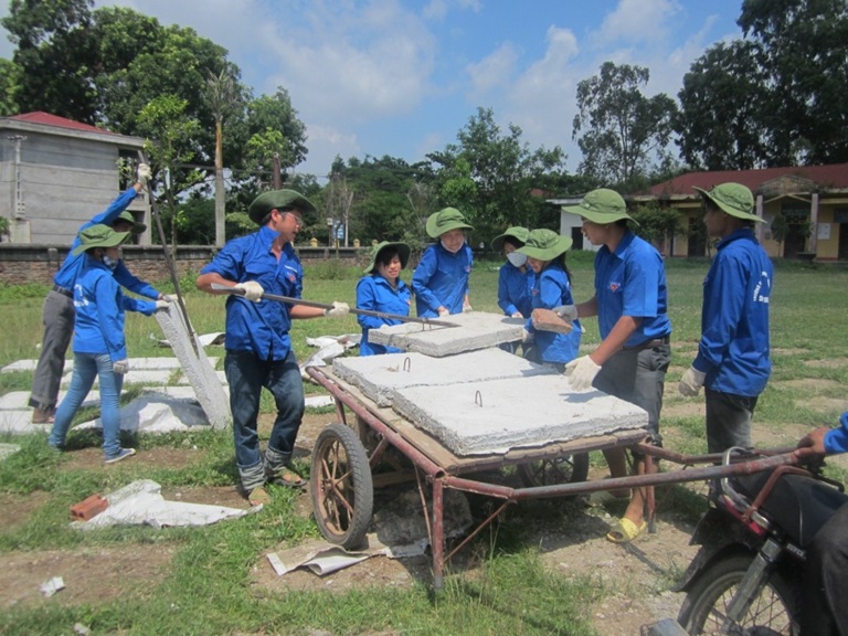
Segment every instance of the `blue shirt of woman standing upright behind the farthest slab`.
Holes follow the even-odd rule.
[[[427,247],[412,275],[417,315],[435,318],[439,306],[451,314],[462,314],[473,266],[474,254],[467,243],[456,254],[445,250],[441,241]]]

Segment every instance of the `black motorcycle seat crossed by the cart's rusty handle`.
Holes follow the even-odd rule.
[[[771,473],[756,473],[732,477],[734,488],[753,501],[765,486]],[[803,475],[784,475],[760,508],[792,542],[807,548],[818,530],[848,504],[848,495],[833,486]]]

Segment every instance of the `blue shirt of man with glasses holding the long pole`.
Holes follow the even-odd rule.
[[[287,243],[279,261],[271,250],[277,233],[267,225],[224,245],[201,274],[220,274],[227,280],[256,280],[268,294],[300,298],[304,269]],[[241,296],[226,299],[226,349],[252,351],[262,360],[285,360],[292,349],[288,306],[276,300],[253,303]]]

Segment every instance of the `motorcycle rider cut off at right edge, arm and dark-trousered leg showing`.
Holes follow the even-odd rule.
[[[848,412],[839,427],[823,426],[798,442],[795,455],[808,460],[848,452]],[[816,532],[807,547],[804,592],[801,600],[801,636],[848,634],[848,504],[841,506]]]

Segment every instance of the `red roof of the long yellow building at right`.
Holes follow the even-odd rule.
[[[794,168],[764,168],[762,170],[718,170],[714,172],[689,172],[669,181],[657,183],[648,190],[654,197],[693,195],[693,186],[711,189],[719,183],[735,181],[756,192],[763,183],[782,177],[808,179],[827,189],[848,188],[848,163],[830,166],[798,166]]]

